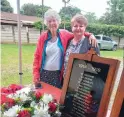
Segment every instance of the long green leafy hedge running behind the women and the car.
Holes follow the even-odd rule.
[[[42,30],[42,23],[40,21],[35,22],[34,27]],[[63,29],[63,27],[64,24],[61,23],[59,28]],[[46,28],[47,27],[45,26],[45,29]],[[70,22],[66,22],[66,29],[71,31]],[[124,37],[124,26],[119,25],[89,24],[87,26],[87,31],[93,33],[94,35],[103,34],[107,36],[116,36],[119,37],[119,39]]]

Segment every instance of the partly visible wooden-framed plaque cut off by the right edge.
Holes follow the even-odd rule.
[[[124,117],[124,69],[121,75],[110,117]]]

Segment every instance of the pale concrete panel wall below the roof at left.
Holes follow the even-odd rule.
[[[40,31],[35,28],[27,26],[21,27],[21,41],[22,43],[36,43]],[[18,28],[13,25],[1,25],[1,42],[2,43],[17,43],[18,42]]]

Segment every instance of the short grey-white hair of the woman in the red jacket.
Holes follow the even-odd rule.
[[[59,24],[61,24],[60,15],[53,9],[49,9],[44,14],[44,24],[47,25],[47,21],[51,18],[55,18]]]

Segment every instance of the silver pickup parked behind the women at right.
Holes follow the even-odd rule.
[[[117,42],[113,41],[111,37],[104,35],[95,35],[99,49],[107,49],[107,50],[117,50]]]

